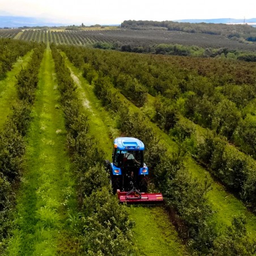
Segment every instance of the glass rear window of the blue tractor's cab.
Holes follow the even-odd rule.
[[[117,150],[114,157],[114,165],[122,167],[127,161],[139,163],[143,166],[143,151],[142,150]]]

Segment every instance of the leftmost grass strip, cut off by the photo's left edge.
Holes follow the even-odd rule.
[[[23,67],[27,66],[32,51],[19,57],[18,61],[12,65],[12,70],[6,73],[6,78],[0,80],[0,128],[5,123],[7,116],[11,113],[11,106],[15,103],[17,92],[15,84],[16,76]]]

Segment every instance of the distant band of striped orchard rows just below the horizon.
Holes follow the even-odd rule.
[[[19,33],[19,36],[18,36]],[[152,46],[157,44],[181,44],[200,46],[203,48],[228,48],[254,50],[251,44],[242,44],[236,40],[228,40],[221,35],[207,35],[201,33],[186,33],[180,31],[133,30],[133,29],[103,29],[88,31],[50,31],[46,29],[9,29],[0,30],[0,37],[21,40],[50,42],[54,44],[92,45],[96,42],[125,46]]]

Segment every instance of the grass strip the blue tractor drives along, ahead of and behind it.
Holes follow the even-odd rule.
[[[81,72],[66,59],[71,76],[78,86],[79,97],[88,112],[90,132],[99,139],[106,157],[112,156],[113,137],[120,135],[114,128],[114,121],[101,106],[100,100],[93,93]],[[186,255],[178,234],[170,223],[169,216],[163,207],[136,206],[129,208],[131,219],[135,220],[134,243],[136,255]]]

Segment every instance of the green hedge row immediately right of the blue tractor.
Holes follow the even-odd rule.
[[[153,173],[155,185],[163,193],[169,210],[176,215],[176,224],[180,235],[190,246],[193,253],[223,255],[232,252],[251,255],[255,251],[255,241],[248,239],[245,229],[245,218],[234,217],[231,227],[217,236],[216,223],[212,220],[213,211],[207,203],[207,192],[210,184],[200,184],[193,179],[182,164],[185,152],[182,148],[169,155],[167,148],[159,143],[159,137],[147,124],[147,118],[141,113],[127,110],[116,93],[111,91],[108,79],[99,78],[102,89],[95,81],[96,95],[106,108],[117,112],[119,128],[127,136],[135,136],[146,144],[146,162]],[[113,105],[113,108],[112,108]],[[185,131],[188,133],[189,131]],[[185,134],[186,134],[185,133]],[[183,136],[185,138],[185,136]]]

